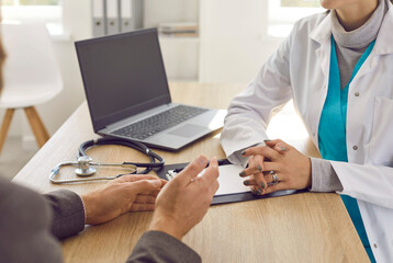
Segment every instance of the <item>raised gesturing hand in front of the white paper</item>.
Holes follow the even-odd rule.
[[[202,220],[218,188],[218,163],[201,156],[172,179],[159,193],[149,230],[166,232],[179,240]]]

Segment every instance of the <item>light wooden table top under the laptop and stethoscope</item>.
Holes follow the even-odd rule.
[[[244,84],[172,83],[170,89],[175,102],[227,108],[231,99],[244,88]],[[276,117],[276,124],[280,124],[278,119],[280,116]],[[276,130],[291,130],[285,125],[280,127]],[[224,158],[218,136],[215,133],[179,152],[157,152],[167,163],[187,162],[201,153]],[[83,103],[14,181],[42,193],[69,188],[82,194],[102,186],[103,183],[54,185],[48,181],[53,167],[75,160],[79,144],[93,137],[97,136]],[[300,139],[289,136],[288,142],[306,155],[318,155],[306,136]],[[141,153],[120,146],[91,149],[89,155],[102,162],[147,161]],[[100,171],[101,175],[116,172]],[[74,172],[61,170],[61,176],[74,176]],[[87,227],[63,242],[65,262],[125,262],[150,219],[151,213],[130,213],[105,225]],[[304,193],[213,206],[183,241],[201,254],[203,262],[368,262],[336,194]]]

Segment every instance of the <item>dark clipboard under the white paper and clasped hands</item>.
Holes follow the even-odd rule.
[[[182,170],[188,164],[189,164],[189,162],[166,164],[161,169],[155,170],[155,172],[157,173],[157,175],[160,179],[168,181],[168,178],[167,178],[168,171]],[[227,165],[227,164],[232,164],[227,159],[218,160],[218,165]],[[308,192],[308,190],[283,190],[283,191],[277,191],[274,193],[266,194],[266,195],[254,195],[254,194],[251,194],[251,192],[226,194],[226,195],[214,196],[211,205],[221,205],[221,204],[229,204],[229,203],[237,203],[237,202],[265,199],[265,198],[279,197],[279,196],[284,196],[284,195],[300,194],[300,193],[305,193],[305,192]]]

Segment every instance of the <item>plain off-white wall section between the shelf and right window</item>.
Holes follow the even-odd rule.
[[[249,82],[282,42],[267,25],[266,0],[201,0],[200,80]]]

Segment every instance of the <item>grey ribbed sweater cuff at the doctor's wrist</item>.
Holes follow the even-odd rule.
[[[311,192],[343,191],[341,182],[328,160],[311,158]]]

